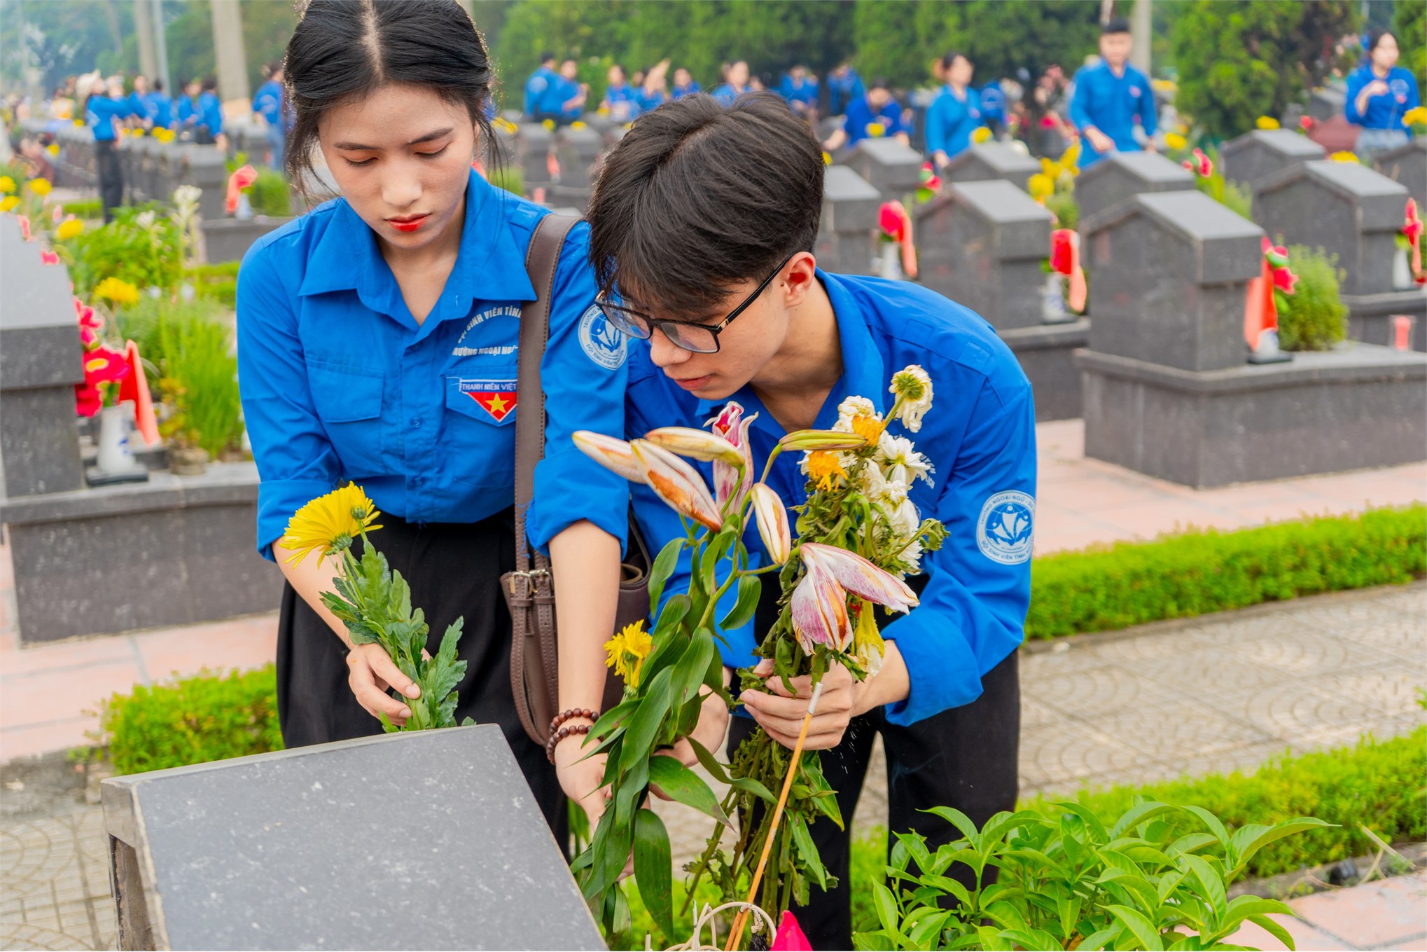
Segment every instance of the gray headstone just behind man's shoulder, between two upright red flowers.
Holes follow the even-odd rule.
[[[1050,213],[1005,180],[946,186],[916,211],[922,284],[997,330],[1045,323]]]

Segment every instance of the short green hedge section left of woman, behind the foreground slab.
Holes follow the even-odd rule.
[[[96,739],[118,774],[281,751],[275,692],[273,665],[136,685],[103,702]]]

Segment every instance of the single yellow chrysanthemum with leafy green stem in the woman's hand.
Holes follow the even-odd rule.
[[[411,587],[367,538],[368,532],[381,528],[374,525],[380,517],[362,488],[354,484],[317,497],[287,524],[283,545],[293,552],[287,561],[290,565],[301,562],[314,551],[323,558],[340,555],[341,568],[332,578],[337,591],[323,592],[323,604],[347,625],[354,645],[380,644],[401,674],[421,688],[420,698],[402,698],[411,708],[404,726],[381,715],[388,734],[455,726],[455,685],[465,677],[465,662],[457,661],[455,651],[465,618],[457,618],[445,629],[435,658],[430,657],[430,628],[422,611],[411,607]],[[361,561],[351,552],[357,537],[364,548]],[[462,726],[467,724],[472,724],[471,718]]]

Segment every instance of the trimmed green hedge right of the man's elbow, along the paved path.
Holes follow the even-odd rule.
[[[1190,530],[1035,559],[1026,638],[1126,628],[1427,575],[1427,507]]]

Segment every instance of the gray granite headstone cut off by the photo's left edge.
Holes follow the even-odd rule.
[[[84,381],[70,275],[41,264],[14,216],[0,216],[0,495],[64,492],[84,482],[74,384]]]

